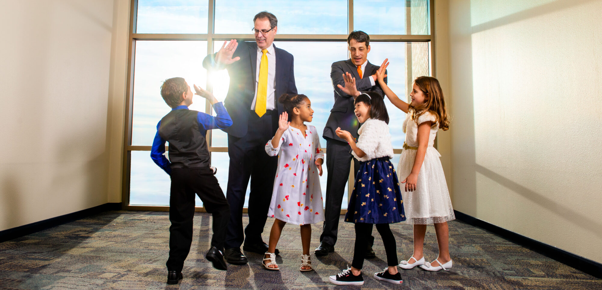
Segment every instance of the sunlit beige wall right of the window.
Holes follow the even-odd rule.
[[[439,5],[455,209],[602,262],[602,1]]]

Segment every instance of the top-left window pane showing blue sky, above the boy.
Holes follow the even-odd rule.
[[[136,33],[207,33],[208,1],[138,0]]]

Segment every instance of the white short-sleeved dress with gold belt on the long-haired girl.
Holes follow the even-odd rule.
[[[429,112],[423,113],[418,117],[418,124],[408,113],[403,121],[403,131],[406,133],[405,142],[408,147],[418,147],[418,124],[426,121],[432,121],[430,127],[429,147],[424,156],[424,162],[418,173],[418,183],[414,192],[405,192],[405,184],[400,183],[402,189],[403,205],[405,208],[406,222],[411,225],[427,225],[430,223],[442,223],[456,219],[445,175],[441,166],[441,154],[433,147],[438,124],[435,122],[435,116]],[[397,165],[397,176],[399,181],[403,181],[412,172],[414,160],[416,159],[416,150],[405,148],[399,158]]]

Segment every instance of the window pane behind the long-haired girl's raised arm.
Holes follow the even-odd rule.
[[[385,58],[389,59],[387,67],[387,82],[389,88],[404,101],[409,100],[409,88],[418,76],[429,76],[429,43],[426,42],[370,42],[368,60],[375,65],[382,64]],[[411,61],[407,61],[411,59]],[[408,74],[411,71],[411,74]],[[393,148],[401,149],[405,140],[403,121],[406,114],[385,100],[389,113],[389,130]]]

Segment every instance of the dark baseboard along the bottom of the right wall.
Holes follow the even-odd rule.
[[[461,213],[456,210],[454,210],[454,213],[456,214],[456,219],[468,223],[468,225],[482,228],[485,231],[497,235],[498,237],[526,247],[533,252],[540,253],[541,255],[547,256],[548,258],[554,259],[562,264],[566,264],[570,267],[576,268],[579,271],[583,271],[591,276],[602,279],[601,263],[592,261],[579,255],[575,255],[574,253],[567,252],[566,250],[559,249],[549,244],[542,243],[541,241],[533,240],[532,238],[525,237],[524,235],[508,231],[507,229],[492,225],[491,223],[477,219],[473,216],[469,216],[468,214]]]

